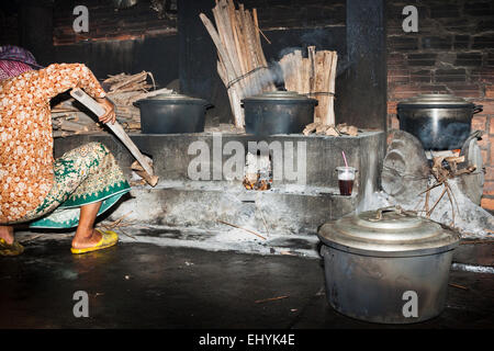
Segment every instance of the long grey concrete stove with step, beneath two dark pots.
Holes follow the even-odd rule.
[[[281,237],[312,237],[328,219],[368,210],[368,200],[380,188],[385,150],[383,132],[363,132],[357,137],[279,135],[258,139],[202,133],[135,134],[131,138],[153,157],[160,180],[156,188],[133,186],[132,199],[122,202],[109,219],[126,215],[125,219],[147,226],[232,229],[218,222],[223,220]],[[132,178],[133,158],[110,134],[56,139],[55,156],[89,141],[106,145]],[[273,158],[270,190],[252,191],[243,185],[245,155],[252,145],[269,150]],[[335,170],[344,165],[341,150],[358,170],[351,196],[339,195]],[[277,159],[281,159],[279,163]]]

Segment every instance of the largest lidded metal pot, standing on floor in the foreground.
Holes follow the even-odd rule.
[[[445,307],[460,237],[400,207],[389,210],[343,217],[319,228],[327,299],[339,313],[367,321],[433,318]]]

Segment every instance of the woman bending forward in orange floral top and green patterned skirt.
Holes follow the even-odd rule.
[[[130,191],[108,148],[90,143],[53,157],[49,100],[81,88],[114,123],[115,113],[92,72],[81,64],[50,65],[0,81],[0,256],[16,256],[23,247],[14,228],[77,227],[72,253],[104,249],[117,235],[94,228],[98,215]]]

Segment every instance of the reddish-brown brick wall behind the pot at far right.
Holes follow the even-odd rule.
[[[418,32],[404,33],[402,10],[418,9]],[[480,141],[485,185],[482,206],[494,211],[494,2],[388,1],[388,125],[398,128],[396,104],[418,93],[452,93],[484,106],[472,129]]]

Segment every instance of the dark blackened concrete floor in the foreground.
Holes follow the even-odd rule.
[[[120,242],[72,256],[70,237],[26,244],[0,258],[0,328],[492,328],[494,274],[452,271],[445,312],[383,326],[326,303],[322,261]],[[76,291],[89,317],[75,318]],[[283,299],[256,303],[278,296]]]

